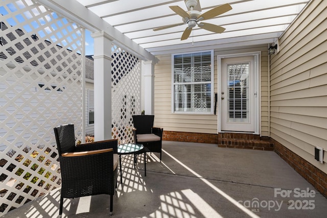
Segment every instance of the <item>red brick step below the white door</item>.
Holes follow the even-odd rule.
[[[218,147],[220,148],[235,148],[235,149],[253,149],[273,151],[274,144],[264,139],[235,139],[235,138],[219,138]]]

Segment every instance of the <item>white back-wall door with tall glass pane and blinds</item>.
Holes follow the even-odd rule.
[[[257,132],[257,56],[221,58],[220,131]]]

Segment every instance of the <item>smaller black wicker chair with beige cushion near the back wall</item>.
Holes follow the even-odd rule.
[[[134,142],[143,144],[148,152],[160,153],[162,148],[162,128],[153,127],[154,115],[133,115]]]

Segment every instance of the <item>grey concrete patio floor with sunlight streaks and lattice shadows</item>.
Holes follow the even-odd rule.
[[[327,199],[270,151],[164,141],[136,170],[123,156],[112,217],[325,217]],[[120,177],[118,178],[120,182]],[[57,217],[60,189],[3,217]],[[63,217],[109,217],[109,197],[65,199]]]

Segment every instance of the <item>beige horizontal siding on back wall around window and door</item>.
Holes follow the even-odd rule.
[[[241,47],[233,50],[220,50],[214,52],[214,92],[218,92],[217,56],[261,51],[261,134],[268,136],[268,54],[267,46]],[[160,61],[155,65],[154,86],[154,114],[155,126],[166,131],[181,131],[195,133],[217,133],[217,115],[207,114],[175,114],[171,112],[171,85],[172,65],[171,55],[156,56]],[[218,108],[218,105],[217,105]]]

